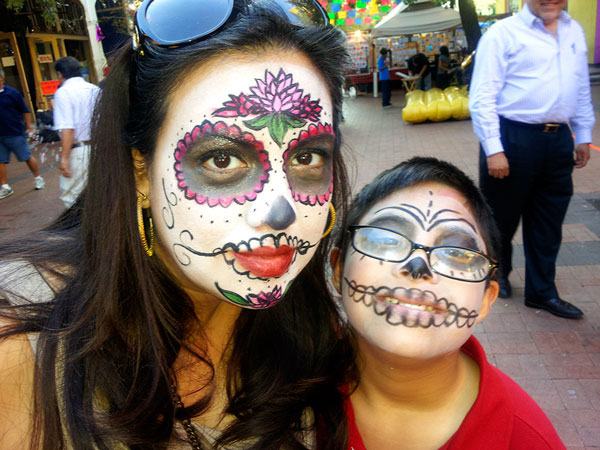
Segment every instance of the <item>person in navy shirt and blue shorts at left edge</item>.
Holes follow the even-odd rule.
[[[35,177],[35,189],[44,188],[44,179],[40,175],[37,160],[31,156],[25,132],[32,131],[31,114],[16,89],[4,84],[4,71],[0,68],[0,199],[13,194],[13,188],[8,184],[7,165],[10,154],[25,162]]]

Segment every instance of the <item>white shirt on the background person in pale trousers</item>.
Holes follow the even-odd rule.
[[[65,80],[54,94],[54,129],[75,130],[75,142],[89,141],[100,88],[81,77]]]

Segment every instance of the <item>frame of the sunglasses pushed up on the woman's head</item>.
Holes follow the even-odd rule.
[[[227,0],[227,8],[224,10],[224,17],[217,22],[212,27],[207,28],[206,30],[202,30],[198,34],[185,38],[185,39],[177,39],[177,40],[165,40],[159,38],[155,32],[152,31],[152,27],[146,20],[146,12],[150,4],[155,0],[144,0],[138,10],[135,13],[134,25],[133,25],[133,49],[140,50],[143,47],[143,44],[149,40],[152,42],[152,45],[158,47],[169,47],[169,48],[177,48],[183,47],[186,45],[193,44],[195,42],[202,41],[204,39],[208,39],[213,35],[217,34],[219,30],[223,28],[223,26],[229,22],[232,18],[233,7],[235,0]],[[204,1],[204,0],[191,0],[191,1]],[[254,3],[256,0],[246,0],[248,5]],[[329,16],[327,15],[327,11],[321,6],[318,0],[304,0],[306,3],[310,3],[316,11],[319,12],[320,16],[323,19],[322,23],[315,22],[316,26],[329,26]],[[289,16],[288,16],[289,17]],[[291,21],[290,21],[291,22]]]

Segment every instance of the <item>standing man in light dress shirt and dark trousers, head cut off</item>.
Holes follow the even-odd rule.
[[[502,234],[500,297],[512,294],[511,242],[522,219],[525,305],[578,319],[583,312],[559,297],[554,279],[573,167],[590,158],[595,119],[585,36],[565,4],[528,0],[485,33],[469,106],[481,188]]]

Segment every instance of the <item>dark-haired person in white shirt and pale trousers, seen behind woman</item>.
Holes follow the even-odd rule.
[[[60,130],[60,199],[70,208],[87,180],[92,113],[100,88],[81,76],[79,61],[61,58],[55,69],[61,85],[54,96],[54,128]]]

